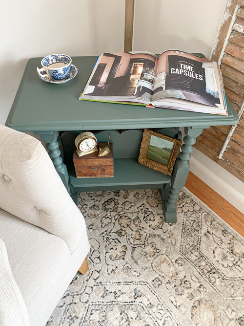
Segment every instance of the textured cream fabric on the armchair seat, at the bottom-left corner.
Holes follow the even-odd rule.
[[[30,326],[29,316],[20,289],[13,277],[7,250],[0,239],[0,324]]]

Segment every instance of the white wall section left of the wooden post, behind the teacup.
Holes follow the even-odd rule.
[[[29,58],[123,51],[124,1],[0,3],[0,124],[5,124]]]

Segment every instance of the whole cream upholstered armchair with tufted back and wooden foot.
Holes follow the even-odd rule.
[[[41,142],[4,126],[0,239],[0,326],[44,326],[88,269],[86,225]]]

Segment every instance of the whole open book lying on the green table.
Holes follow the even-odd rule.
[[[103,53],[79,99],[228,114],[219,65],[179,50]]]

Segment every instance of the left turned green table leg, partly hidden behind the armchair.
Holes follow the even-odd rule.
[[[46,143],[46,148],[49,150],[48,154],[53,161],[53,165],[55,166],[56,171],[60,175],[61,180],[70,195],[69,175],[67,167],[65,164],[63,164],[62,158],[60,156],[61,152],[58,149],[58,131],[34,131],[34,134],[40,135],[41,139]]]

